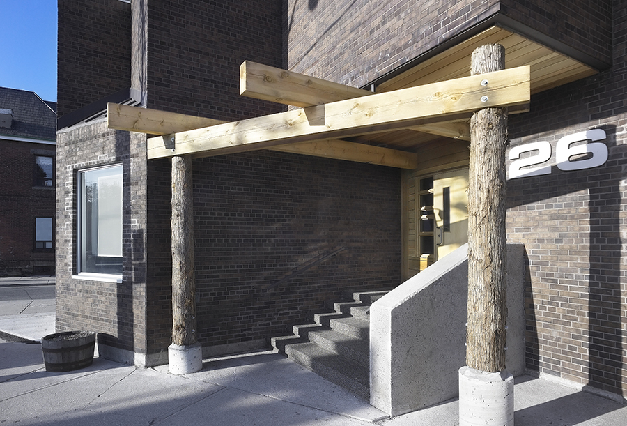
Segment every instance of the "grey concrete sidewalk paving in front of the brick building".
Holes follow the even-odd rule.
[[[203,370],[185,376],[169,374],[167,365],[144,369],[103,358],[74,372],[46,372],[40,344],[7,341],[11,336],[39,340],[54,333],[54,298],[46,296],[43,286],[49,284],[43,281],[0,278],[0,309],[11,303],[14,309],[0,311],[0,423],[458,425],[457,400],[388,418],[365,400],[271,351],[206,360]],[[29,298],[7,296],[17,294]],[[26,309],[16,314],[24,304]],[[33,304],[48,312],[28,313]],[[516,426],[627,425],[622,402],[566,382],[521,376],[514,395]]]

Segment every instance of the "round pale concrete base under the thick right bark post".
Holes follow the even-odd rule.
[[[513,426],[513,376],[459,369],[459,425]]]

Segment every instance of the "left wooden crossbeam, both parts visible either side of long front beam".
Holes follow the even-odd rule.
[[[166,127],[171,129],[172,132],[185,132],[196,128],[208,127],[209,125],[227,123],[227,121],[203,119],[202,117],[158,111],[157,109],[128,107],[127,105],[118,104],[108,104],[107,113],[109,128],[148,133],[150,135],[160,135]],[[355,144],[339,139],[282,145],[274,149],[274,151],[335,158],[336,160],[366,162],[401,169],[415,169],[418,164],[418,155],[416,153],[382,148],[380,146]]]

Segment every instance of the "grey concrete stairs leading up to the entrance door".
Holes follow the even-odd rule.
[[[293,326],[293,335],[272,337],[272,347],[303,367],[369,400],[370,305],[387,294],[358,291],[325,303],[311,324]]]

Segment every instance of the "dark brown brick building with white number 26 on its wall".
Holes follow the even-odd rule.
[[[611,0],[59,1],[57,328],[97,330],[101,356],[167,362],[170,163],[107,128],[106,102],[243,120],[286,111],[239,96],[243,61],[385,93],[469,75],[474,47],[501,43],[532,76],[506,153],[527,368],[625,395],[625,14]],[[206,355],[265,347],[341,291],[395,287],[464,243],[466,128],[347,141],[416,153],[412,169],[270,150],[194,160]],[[107,231],[102,205],[118,212]]]

